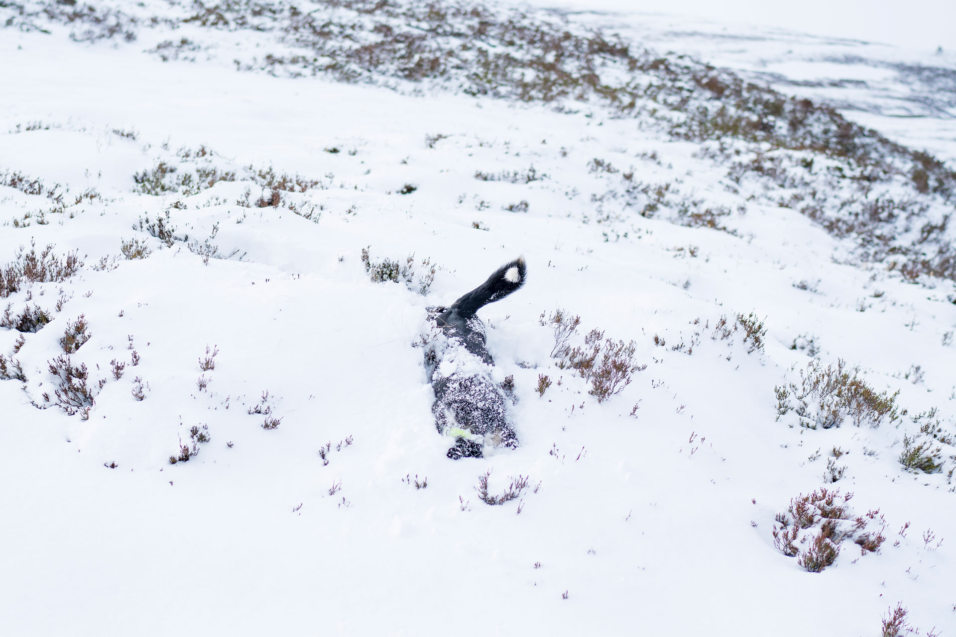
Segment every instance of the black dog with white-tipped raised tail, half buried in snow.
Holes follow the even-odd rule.
[[[485,324],[475,312],[523,286],[526,274],[525,260],[519,257],[450,307],[430,309],[441,333],[425,350],[425,370],[435,390],[431,411],[438,431],[455,438],[450,458],[482,457],[486,448],[518,445],[505,406],[506,390],[491,379],[494,360],[486,346]]]

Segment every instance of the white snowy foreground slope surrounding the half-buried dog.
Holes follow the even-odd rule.
[[[0,267],[48,244],[82,265],[0,287],[38,328],[0,328],[4,634],[880,635],[900,603],[956,630],[956,288],[900,265],[942,188],[880,178],[912,203],[841,234],[835,202],[870,200],[838,157],[757,148],[813,159],[790,180],[597,98],[416,95],[256,71],[268,31],[33,20],[0,30]],[[144,53],[179,30],[178,59]],[[810,190],[819,223],[788,203]],[[371,281],[363,248],[413,256],[410,282]],[[518,255],[527,285],[479,315],[521,444],[453,461],[426,308]],[[572,345],[634,342],[620,393],[559,367],[556,308]],[[67,355],[92,404],[57,397]],[[839,396],[801,406],[801,372],[838,361]],[[900,462],[921,444],[929,473]],[[529,486],[489,506],[487,471],[492,495]],[[798,556],[773,531],[821,488],[847,519],[816,573],[826,520]]]

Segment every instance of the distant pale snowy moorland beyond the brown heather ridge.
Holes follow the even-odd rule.
[[[927,53],[850,37],[618,9],[576,18],[659,51],[695,55],[784,93],[826,100],[901,143],[956,159],[956,53],[950,49]]]

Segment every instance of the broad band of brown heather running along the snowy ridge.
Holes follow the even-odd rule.
[[[670,138],[712,142],[701,157],[726,164],[728,189],[747,178],[762,180],[768,187],[757,197],[792,207],[836,237],[853,238],[859,259],[886,262],[908,281],[956,278],[956,248],[946,227],[956,172],[945,161],[885,138],[832,105],[782,94],[692,56],[646,49],[574,17],[442,1],[350,0],[315,3],[304,11],[293,4],[234,0],[198,2],[163,16],[151,14],[146,5],[77,11],[72,0],[13,6],[19,10],[11,13],[8,26],[31,30],[40,28],[39,21],[53,21],[69,25],[80,41],[132,40],[140,29],[181,26],[195,38],[206,30],[254,32],[267,48],[235,59],[237,71],[328,74],[404,94],[445,90],[551,104],[559,112],[576,112],[576,103],[587,103],[611,117],[640,118]],[[190,59],[203,47],[180,38],[178,44],[160,42],[151,53],[164,60],[181,54]],[[439,138],[429,136],[425,143],[434,147]],[[202,150],[181,154],[181,163],[196,157],[205,162],[211,152]],[[642,157],[659,161],[654,154]],[[588,168],[601,179],[618,175],[628,185],[634,180],[633,170],[619,171],[603,159]],[[825,171],[838,183],[833,195],[811,183]],[[527,183],[530,178],[522,173],[531,171],[517,172],[517,179],[505,179]],[[478,179],[495,175],[480,173]],[[143,192],[198,190],[205,187],[201,182],[219,179],[171,163],[137,178]],[[633,186],[627,205],[639,214],[653,215],[666,203],[676,223],[727,230],[722,224],[726,206],[690,198],[662,203],[653,192],[643,196],[640,185]],[[890,195],[899,190],[894,200]],[[913,227],[916,232],[906,227],[913,219],[921,222]]]

